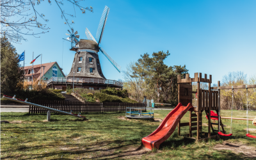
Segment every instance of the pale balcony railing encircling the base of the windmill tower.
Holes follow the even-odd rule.
[[[93,84],[113,84],[115,86],[123,86],[123,83],[111,79],[97,79],[97,78],[66,78],[66,77],[51,77],[47,84],[56,83],[93,83]]]

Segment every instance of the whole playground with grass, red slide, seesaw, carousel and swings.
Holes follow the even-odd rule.
[[[248,111],[248,96],[246,111],[221,110],[220,90],[246,89],[248,95],[248,88],[256,85],[220,86],[218,81],[217,87],[211,87],[211,78],[207,79],[207,74],[202,78],[201,73],[195,73],[194,78],[178,76],[179,104],[169,110],[131,106],[124,113],[119,104],[115,113],[104,112],[103,105],[98,107],[99,113],[76,114],[56,105],[46,107],[4,95],[4,99],[46,110],[34,115],[1,113],[2,119],[10,122],[1,123],[1,157],[254,159],[256,111]],[[192,82],[197,83],[196,92]],[[208,83],[209,90],[202,90],[200,83]],[[197,106],[192,106],[193,94]],[[78,107],[74,109],[87,110]]]

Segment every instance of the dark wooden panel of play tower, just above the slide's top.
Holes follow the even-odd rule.
[[[182,106],[187,106],[189,103],[192,104],[192,85],[179,84],[178,86],[178,103]]]

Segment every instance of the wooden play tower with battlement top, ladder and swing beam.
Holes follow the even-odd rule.
[[[196,93],[197,106],[194,106],[193,109],[189,109],[189,122],[178,124],[178,134],[180,136],[180,127],[189,126],[189,134],[183,135],[192,137],[192,131],[196,131],[196,140],[205,139],[205,134],[207,138],[212,138],[212,132],[218,132],[222,136],[231,136],[230,134],[225,134],[225,129],[221,122],[220,116],[220,90],[221,89],[239,89],[239,88],[256,88],[256,85],[243,85],[243,86],[220,86],[220,81],[218,81],[218,86],[211,87],[212,76],[209,75],[207,79],[207,74],[202,77],[201,73],[195,73],[195,77],[189,77],[189,74],[182,77],[179,75],[177,79],[178,83],[178,102],[183,106],[192,104],[192,94]],[[192,91],[192,83],[197,83],[197,89],[195,92]],[[208,83],[209,90],[202,90],[200,88],[200,83]],[[205,111],[205,115],[208,119],[208,132],[202,132],[202,113]],[[216,111],[216,115],[209,114],[211,111]],[[209,117],[210,116],[210,117]],[[212,123],[211,118],[216,118],[218,123]],[[218,130],[214,130],[212,125],[218,125]],[[221,131],[221,129],[222,131]],[[215,134],[214,136],[217,136]]]

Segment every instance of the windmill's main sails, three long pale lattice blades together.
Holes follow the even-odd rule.
[[[98,47],[99,44],[102,40],[102,35],[106,26],[106,22],[108,19],[108,14],[109,14],[109,8],[108,6],[105,6],[102,16],[100,18],[100,23],[99,23],[99,27],[97,29],[97,33],[96,33],[96,40],[95,38],[92,36],[92,34],[90,33],[90,31],[88,30],[88,28],[85,29],[85,34],[88,38],[88,40],[93,40],[94,42],[97,43]],[[112,65],[116,68],[116,70],[118,70],[118,72],[121,72],[121,67],[120,65],[118,65],[118,63],[116,63],[110,56],[109,54],[104,51],[104,49],[102,49],[102,47],[99,47],[99,50],[102,52],[102,54],[104,54],[104,56],[106,56],[106,58],[108,58],[108,60],[112,63]]]

